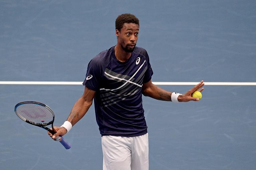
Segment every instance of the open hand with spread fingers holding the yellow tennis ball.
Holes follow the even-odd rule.
[[[203,87],[205,84],[204,84],[204,81],[202,80],[199,84],[197,84],[195,87],[191,88],[190,90],[188,90],[185,94],[183,95],[179,95],[178,97],[178,101],[179,102],[188,102],[188,101],[199,101],[199,98],[195,98],[195,97],[192,97],[192,94],[193,92],[195,91],[200,91],[202,92],[204,90],[204,88],[201,88]],[[201,89],[200,89],[201,88]],[[199,90],[200,89],[200,90]]]

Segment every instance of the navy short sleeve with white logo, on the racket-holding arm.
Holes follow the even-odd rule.
[[[101,78],[101,67],[97,60],[92,59],[87,67],[86,78],[83,81],[83,85],[91,90],[97,91],[99,89],[99,83]]]

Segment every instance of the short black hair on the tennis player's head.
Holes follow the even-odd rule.
[[[138,24],[140,27],[139,19],[133,14],[121,14],[115,20],[115,29],[121,31],[124,23]]]

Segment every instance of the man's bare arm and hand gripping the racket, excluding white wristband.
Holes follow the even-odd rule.
[[[93,97],[95,95],[96,91],[93,91],[87,87],[84,88],[83,95],[75,102],[69,116],[67,117],[67,121],[69,121],[72,126],[74,126],[75,123],[77,123],[88,111],[92,104]],[[48,132],[48,135],[55,139],[57,136],[67,133],[67,130],[64,127],[54,127],[56,133],[52,135],[50,132]]]

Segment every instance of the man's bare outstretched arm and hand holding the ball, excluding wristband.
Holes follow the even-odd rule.
[[[180,102],[188,102],[188,101],[199,101],[199,99],[192,97],[192,93],[199,90],[199,88],[204,86],[204,81],[201,81],[198,85],[194,86],[190,90],[188,90],[185,94],[179,95],[178,101]],[[204,88],[201,88],[199,91],[203,91]],[[151,80],[148,83],[142,85],[142,94],[145,96],[149,96],[158,100],[164,101],[172,101],[171,95],[172,92],[167,91],[157,85],[154,85]]]

